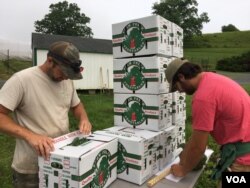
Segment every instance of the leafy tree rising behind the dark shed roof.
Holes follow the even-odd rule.
[[[75,3],[67,1],[51,4],[50,13],[42,20],[35,21],[35,31],[45,34],[92,37],[91,28],[86,24],[90,18],[80,13]]]

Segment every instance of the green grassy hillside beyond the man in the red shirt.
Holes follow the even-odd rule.
[[[204,34],[184,41],[184,57],[200,65],[208,64],[212,70],[218,60],[248,51],[250,31]]]

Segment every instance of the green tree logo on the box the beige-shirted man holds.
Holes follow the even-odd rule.
[[[91,183],[93,188],[102,188],[107,183],[109,177],[111,176],[111,168],[109,165],[109,159],[111,154],[108,150],[104,149],[98,153],[95,158],[93,169],[95,172],[95,177]]]

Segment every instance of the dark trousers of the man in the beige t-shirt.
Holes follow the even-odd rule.
[[[14,188],[38,188],[38,174],[21,174],[13,170],[13,187]]]

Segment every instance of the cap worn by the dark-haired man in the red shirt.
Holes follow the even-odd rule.
[[[175,92],[177,90],[177,88],[173,87],[173,78],[176,74],[176,72],[179,70],[179,68],[187,63],[188,60],[187,59],[179,59],[176,58],[173,61],[170,62],[170,64],[167,66],[166,70],[165,70],[165,75],[167,78],[167,81],[169,83],[169,91],[170,92]]]

